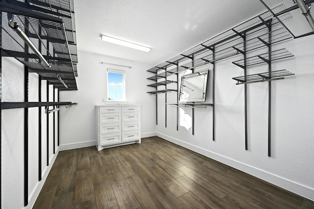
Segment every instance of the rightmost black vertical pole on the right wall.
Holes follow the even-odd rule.
[[[271,22],[268,25],[268,73],[271,77]],[[268,157],[271,154],[271,81],[268,81]]]

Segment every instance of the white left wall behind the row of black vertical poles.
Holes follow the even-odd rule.
[[[38,102],[38,75],[28,76],[28,101]],[[1,79],[1,102],[24,102],[24,65],[14,58],[2,57]],[[46,83],[42,81],[41,85],[42,102],[47,101]],[[52,91],[49,95],[52,98]],[[38,107],[28,108],[28,205],[24,207],[24,108],[1,110],[1,208],[32,208],[56,157],[51,151],[47,166],[47,116],[42,107],[42,181],[39,182],[38,115]],[[52,127],[51,122],[49,129]],[[49,139],[52,144],[52,137]]]

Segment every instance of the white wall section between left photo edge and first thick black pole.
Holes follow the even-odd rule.
[[[24,67],[2,57],[2,101],[24,102]],[[1,110],[1,208],[24,207],[24,109]]]

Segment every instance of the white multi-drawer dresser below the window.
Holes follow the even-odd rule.
[[[141,143],[141,105],[96,104],[98,151],[126,144]]]

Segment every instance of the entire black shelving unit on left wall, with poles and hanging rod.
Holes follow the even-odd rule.
[[[54,108],[58,105],[68,106],[76,104],[72,102],[55,102],[55,89],[58,89],[58,92],[63,90],[78,90],[75,78],[78,76],[76,65],[78,56],[73,1],[0,1],[0,116],[1,111],[4,109],[24,108],[25,206],[28,205],[28,108],[38,107],[38,181],[41,181],[41,107],[45,106],[48,110],[49,106],[53,106]],[[9,25],[9,22],[13,24]],[[2,101],[1,81],[3,78],[1,78],[1,57],[14,57],[24,65],[24,102]],[[37,73],[39,75],[38,102],[28,102],[29,73]],[[47,102],[41,102],[42,80],[47,80]],[[50,84],[53,85],[53,102],[49,102]],[[48,113],[47,111],[47,166],[49,165]],[[53,112],[53,154],[55,152],[54,122],[56,113],[59,114],[58,112]]]

